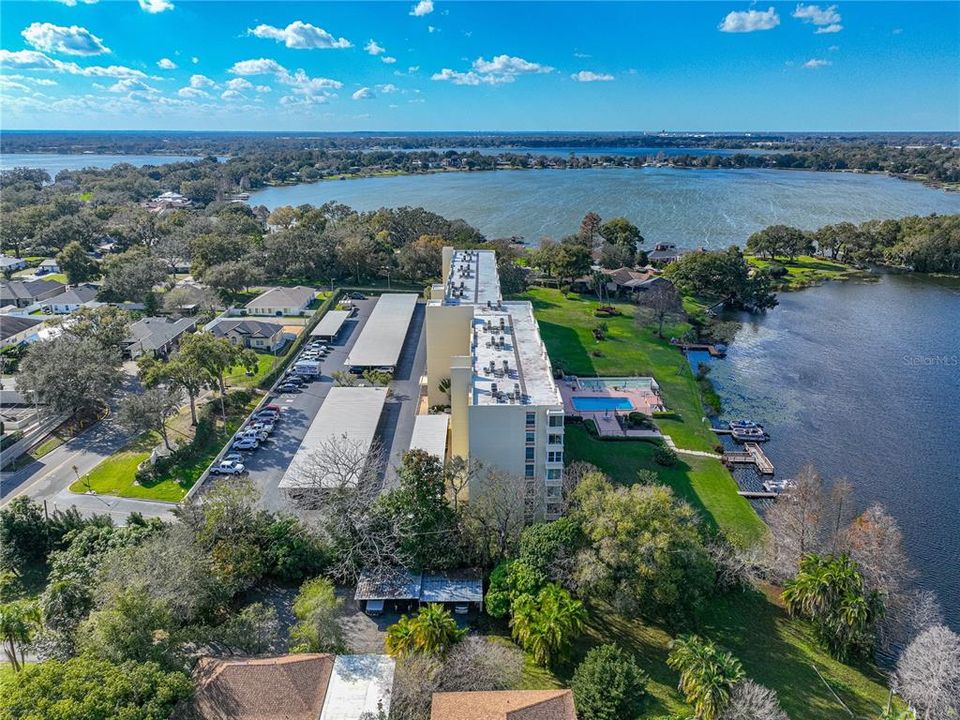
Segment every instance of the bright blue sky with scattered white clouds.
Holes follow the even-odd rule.
[[[960,130],[960,3],[3,2],[2,127]]]

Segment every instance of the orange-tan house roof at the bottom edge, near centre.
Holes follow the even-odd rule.
[[[569,690],[434,693],[430,720],[577,720]]]

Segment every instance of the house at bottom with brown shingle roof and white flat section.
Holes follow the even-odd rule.
[[[360,720],[390,711],[395,663],[386,655],[303,653],[204,657],[196,691],[174,720]]]

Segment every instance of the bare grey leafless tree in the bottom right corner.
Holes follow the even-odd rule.
[[[943,625],[924,630],[897,662],[892,685],[921,720],[960,717],[960,635]]]

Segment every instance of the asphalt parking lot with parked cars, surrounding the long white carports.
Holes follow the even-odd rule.
[[[355,300],[357,314],[349,318],[334,343],[327,343],[330,353],[323,359],[319,378],[302,386],[300,392],[271,395],[269,403],[279,405],[280,422],[270,436],[257,450],[242,452],[242,462],[246,466],[249,478],[262,495],[262,502],[268,510],[291,510],[285,495],[279,490],[280,480],[287,466],[300,447],[310,423],[333,387],[333,373],[345,371],[344,360],[359,337],[369,318],[376,298]],[[410,444],[413,433],[413,421],[416,416],[416,403],[419,395],[419,380],[426,363],[425,337],[423,325],[425,306],[418,303],[410,323],[403,351],[400,356],[395,380],[391,384],[392,397],[384,408],[378,429],[381,443],[389,451],[390,463],[386,472],[387,485],[392,484],[393,465],[399,461],[402,453]],[[291,361],[292,367],[294,361]]]

